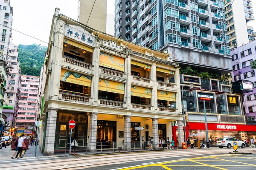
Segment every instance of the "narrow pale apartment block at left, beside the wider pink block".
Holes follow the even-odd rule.
[[[7,65],[7,89],[4,96],[3,114],[6,115],[8,126],[15,125],[18,109],[18,99],[20,97],[20,62],[18,59],[18,46],[12,42],[9,45]]]

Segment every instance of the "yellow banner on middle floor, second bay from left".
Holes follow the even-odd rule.
[[[111,93],[124,94],[125,84],[121,82],[113,82],[110,80],[99,79],[99,90]]]

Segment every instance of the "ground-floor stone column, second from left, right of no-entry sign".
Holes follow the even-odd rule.
[[[90,113],[88,152],[96,152],[98,113]]]

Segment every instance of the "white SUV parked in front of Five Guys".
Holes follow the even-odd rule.
[[[217,141],[217,146],[219,148],[227,147],[230,149],[233,147],[233,142],[237,142],[238,147],[245,148],[245,143],[236,138],[219,138]]]

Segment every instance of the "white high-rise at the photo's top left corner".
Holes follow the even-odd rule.
[[[7,54],[10,38],[12,37],[12,12],[10,0],[0,0],[0,49]],[[6,55],[4,56],[6,59]]]

